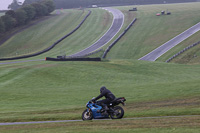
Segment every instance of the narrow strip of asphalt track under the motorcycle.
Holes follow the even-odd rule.
[[[155,117],[135,117],[135,118],[123,118],[122,120],[143,120],[143,119],[160,119],[160,118],[182,118],[182,117],[192,117],[200,115],[182,115],[182,116],[155,116]],[[94,119],[98,120],[112,120],[112,119]],[[34,122],[7,122],[0,123],[0,126],[8,125],[27,125],[27,124],[44,124],[44,123],[67,123],[67,122],[83,122],[83,120],[60,120],[60,121],[34,121]]]

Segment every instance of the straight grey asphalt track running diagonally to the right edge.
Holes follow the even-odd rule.
[[[174,46],[178,45],[179,43],[181,43],[194,33],[198,32],[199,30],[200,30],[200,22],[138,60],[155,61],[160,56],[165,54],[167,51],[172,49]]]

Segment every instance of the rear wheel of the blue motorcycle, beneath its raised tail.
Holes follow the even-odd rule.
[[[112,119],[121,119],[124,116],[124,109],[120,106],[113,108],[113,112],[110,114]]]

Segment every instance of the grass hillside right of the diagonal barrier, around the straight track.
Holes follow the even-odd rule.
[[[139,59],[174,36],[200,22],[199,6],[200,3],[138,6],[136,13],[137,22],[128,31],[126,36],[115,45],[108,54],[108,58]],[[119,7],[119,9],[125,11],[128,11],[130,8],[132,6]],[[172,14],[159,17],[155,15],[162,10],[170,11]],[[199,33],[197,34],[199,35]],[[197,36],[193,42],[200,41]],[[165,55],[167,57],[160,61],[166,61],[175,52],[179,52],[183,47],[189,45],[191,44],[183,42],[177,46],[177,49],[172,49],[172,51],[168,52]]]

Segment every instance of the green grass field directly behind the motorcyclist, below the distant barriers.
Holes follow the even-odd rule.
[[[1,65],[0,121],[80,119],[102,85],[127,98],[125,117],[199,114],[199,67],[129,60]]]

